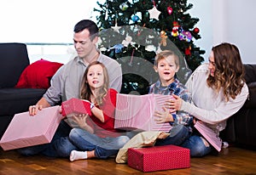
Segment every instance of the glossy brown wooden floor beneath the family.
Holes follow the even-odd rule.
[[[191,167],[145,174],[256,174],[256,151],[236,147],[224,149],[219,155],[191,158]],[[67,159],[41,155],[26,157],[14,150],[0,150],[0,174],[143,174],[127,164],[116,164],[114,159],[70,162]]]

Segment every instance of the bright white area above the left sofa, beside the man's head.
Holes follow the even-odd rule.
[[[96,0],[1,0],[0,42],[73,42],[73,26],[91,17]]]

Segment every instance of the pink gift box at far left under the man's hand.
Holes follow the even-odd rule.
[[[1,138],[3,150],[49,143],[63,118],[59,108],[53,106],[38,110],[36,116],[30,116],[28,112],[15,114]]]

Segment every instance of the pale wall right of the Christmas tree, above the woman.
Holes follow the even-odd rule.
[[[189,0],[194,4],[191,14],[200,19],[201,41],[195,42],[207,50],[221,42],[236,44],[244,63],[256,63],[254,31],[256,31],[255,0]]]

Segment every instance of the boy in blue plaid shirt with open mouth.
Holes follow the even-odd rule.
[[[191,96],[187,88],[177,79],[176,73],[179,69],[177,54],[171,50],[164,50],[156,55],[154,70],[159,73],[159,80],[149,88],[149,93],[172,95],[175,94],[181,99],[190,102]],[[189,137],[190,124],[193,118],[187,112],[170,112],[166,107],[163,111],[154,112],[155,120],[159,123],[169,122],[172,125],[170,136],[165,139],[158,139],[155,145],[182,144],[184,139]]]

